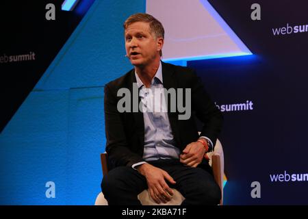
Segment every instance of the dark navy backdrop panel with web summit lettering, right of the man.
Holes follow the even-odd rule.
[[[306,181],[270,181],[270,174],[308,170],[308,31],[274,36],[272,28],[308,25],[307,1],[209,1],[253,55],[188,62],[216,104],[253,101],[253,110],[223,112],[226,204],[307,204]],[[261,198],[251,198],[251,182]]]

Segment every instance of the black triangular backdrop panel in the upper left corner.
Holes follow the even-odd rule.
[[[2,131],[73,33],[94,0],[80,1],[75,10],[61,10],[62,0],[1,1],[0,56],[34,53],[35,60],[0,63]],[[55,20],[45,9],[55,5]]]

